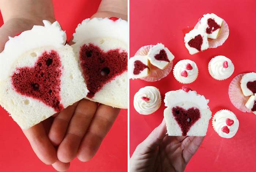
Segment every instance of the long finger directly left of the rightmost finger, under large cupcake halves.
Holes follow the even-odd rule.
[[[68,163],[76,157],[80,142],[84,137],[97,109],[97,103],[82,99],[69,123],[67,134],[61,142],[57,157],[61,162]]]

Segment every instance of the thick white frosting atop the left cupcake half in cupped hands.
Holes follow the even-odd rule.
[[[0,81],[10,75],[12,64],[26,51],[34,48],[53,46],[59,48],[66,43],[66,33],[61,30],[60,24],[43,20],[45,26],[33,26],[31,30],[24,31],[14,38],[9,37],[5,43],[4,51],[0,53]]]

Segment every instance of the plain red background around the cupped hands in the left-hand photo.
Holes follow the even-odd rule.
[[[53,0],[53,3],[56,19],[69,40],[76,26],[97,11],[100,0]],[[1,107],[0,114],[0,171],[54,172],[51,165],[37,158],[19,126]],[[95,157],[86,163],[75,159],[68,171],[127,171],[127,156],[127,110],[121,110]]]

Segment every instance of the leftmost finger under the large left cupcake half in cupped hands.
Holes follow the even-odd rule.
[[[45,133],[42,123],[23,130],[38,158],[45,164],[57,161],[56,150]]]

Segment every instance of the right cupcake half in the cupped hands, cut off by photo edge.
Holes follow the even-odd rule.
[[[72,45],[89,93],[87,99],[127,108],[128,23],[116,17],[83,20]]]

